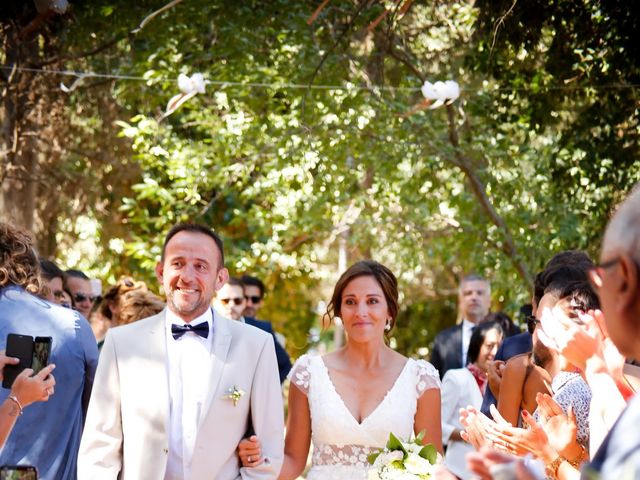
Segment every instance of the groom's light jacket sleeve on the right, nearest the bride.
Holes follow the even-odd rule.
[[[266,337],[251,387],[251,422],[265,461],[258,467],[241,468],[242,478],[272,480],[280,473],[284,459],[283,410],[274,343],[272,337]]]

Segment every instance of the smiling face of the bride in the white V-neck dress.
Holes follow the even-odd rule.
[[[349,340],[379,341],[390,318],[387,300],[372,276],[356,277],[342,292],[340,317]]]

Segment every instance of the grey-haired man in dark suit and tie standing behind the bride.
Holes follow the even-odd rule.
[[[460,282],[458,305],[462,322],[440,332],[433,341],[431,363],[444,377],[447,370],[467,364],[467,350],[474,327],[489,313],[491,285],[479,275],[468,275]]]

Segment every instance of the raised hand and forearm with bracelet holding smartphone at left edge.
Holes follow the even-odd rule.
[[[17,358],[7,357],[0,352],[0,380],[2,380],[4,367],[20,363]],[[20,373],[11,386],[9,395],[0,405],[0,448],[11,433],[13,426],[22,415],[22,410],[34,402],[46,402],[53,395],[53,386],[56,384],[51,372],[56,368],[51,364],[44,367],[33,377],[33,370],[27,368]]]

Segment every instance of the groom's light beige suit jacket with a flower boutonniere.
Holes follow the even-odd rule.
[[[214,313],[209,382],[192,458],[192,478],[274,479],[283,460],[284,419],[273,338]],[[170,339],[173,341],[173,339]],[[169,381],[165,312],[107,334],[80,455],[80,480],[163,480],[169,452]],[[231,387],[245,392],[237,405]],[[269,459],[240,468],[236,447],[249,425]]]

